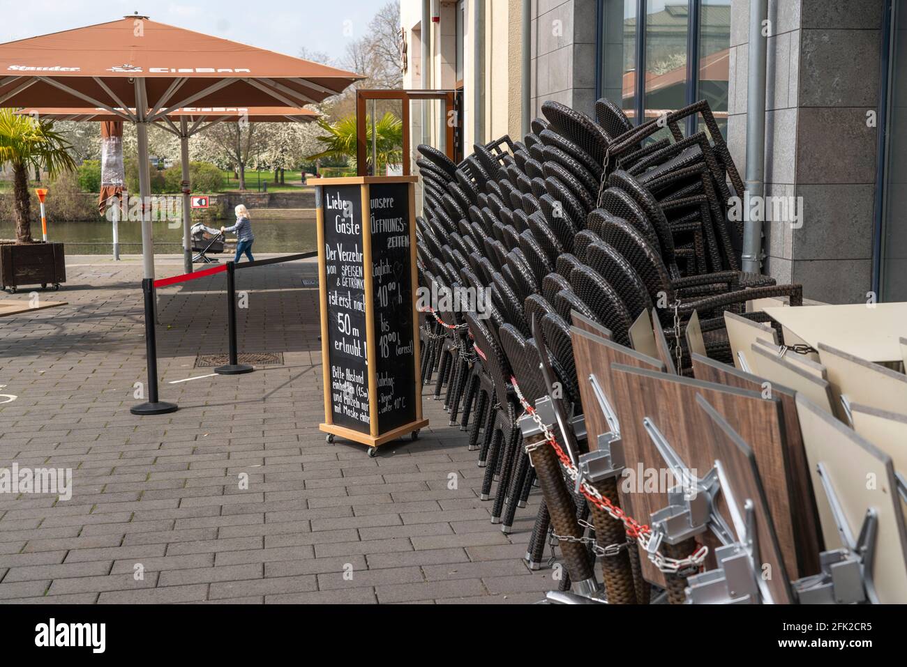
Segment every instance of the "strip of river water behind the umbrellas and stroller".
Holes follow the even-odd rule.
[[[210,227],[220,227],[221,223]],[[169,222],[153,223],[154,252],[180,253],[182,227]],[[302,253],[317,247],[316,223],[313,219],[287,220],[256,218],[252,221],[255,234],[254,252]],[[227,235],[229,238],[234,238]],[[32,225],[32,237],[41,238],[41,223]],[[15,223],[0,221],[0,238],[15,238]],[[65,244],[67,255],[109,255],[112,253],[112,226],[107,222],[56,222],[47,226],[47,240]],[[141,254],[141,224],[120,223],[120,253]],[[216,256],[215,256],[216,257]]]

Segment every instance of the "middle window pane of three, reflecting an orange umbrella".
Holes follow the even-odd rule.
[[[687,0],[649,0],[646,14],[646,120],[687,106]]]

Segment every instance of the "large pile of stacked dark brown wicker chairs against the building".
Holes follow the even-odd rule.
[[[681,324],[697,312],[707,352],[727,361],[725,311],[745,314],[746,302],[767,296],[802,303],[799,285],[740,270],[742,229],[728,218],[728,198],[742,195],[743,183],[706,102],[638,127],[606,100],[596,104],[595,119],[556,102],[541,111],[522,142],[476,145],[459,164],[420,146],[416,160],[424,193],[416,221],[420,285],[485,297],[476,312],[422,314],[424,382],[434,376],[439,399],[446,387],[451,424],[459,418],[470,449],[479,449],[493,523],[512,530],[537,476],[560,498],[558,507],[541,503],[526,555],[534,568],[554,517],[557,529],[582,535],[580,523],[564,526],[564,498],[571,517],[589,514],[562,479],[543,480],[541,464],[530,465],[517,424],[521,397],[533,405],[550,391],[541,362],[571,416],[582,414],[572,314],[629,345],[629,328],[643,311]],[[707,131],[685,137],[681,121],[694,115]],[[666,335],[685,372],[686,342],[674,332]],[[583,449],[582,437],[576,440]],[[541,469],[550,471],[546,461]],[[570,552],[568,564],[578,570],[570,574],[584,580],[589,563]],[[609,594],[648,599],[616,588]]]

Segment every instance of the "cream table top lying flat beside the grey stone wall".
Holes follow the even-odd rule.
[[[907,303],[783,306],[766,314],[813,347],[824,343],[869,362],[902,360]]]

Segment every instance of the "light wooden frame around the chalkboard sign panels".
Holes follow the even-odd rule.
[[[419,314],[415,304],[415,290],[418,287],[416,256],[415,256],[415,183],[418,177],[398,176],[398,177],[351,177],[344,179],[320,179],[317,187],[319,195],[317,198],[317,239],[318,239],[318,291],[321,304],[321,362],[324,382],[324,399],[325,399],[325,421],[320,424],[319,429],[328,433],[330,436],[336,436],[345,440],[352,440],[367,445],[370,448],[377,448],[392,440],[398,440],[406,434],[411,434],[413,440],[418,435],[419,430],[428,426],[428,420],[424,419],[422,411],[422,364],[419,340]],[[386,432],[379,431],[378,416],[378,381],[377,368],[378,359],[375,349],[375,289],[373,278],[372,263],[372,234],[371,225],[371,186],[375,184],[408,184],[408,207],[409,207],[409,252],[410,252],[410,280],[412,285],[413,296],[413,354],[414,354],[414,378],[415,383],[415,419],[403,426]],[[327,257],[325,254],[325,202],[324,188],[333,186],[359,186],[362,204],[360,220],[362,227],[362,247],[363,247],[363,267],[365,282],[365,308],[366,308],[366,372],[368,373],[368,392],[371,400],[368,401],[369,411],[369,432],[363,433],[358,430],[339,426],[333,420],[333,404],[331,402],[331,369],[330,369],[330,336],[328,331],[327,317],[327,284],[325,276],[327,273]],[[372,398],[375,397],[375,398]],[[373,453],[373,452],[370,452]]]

